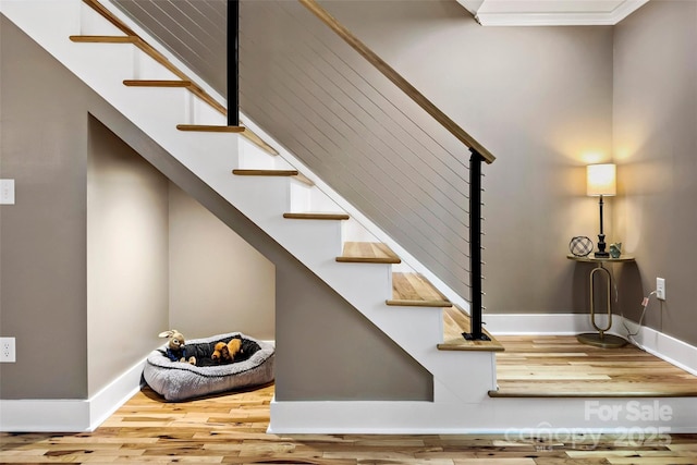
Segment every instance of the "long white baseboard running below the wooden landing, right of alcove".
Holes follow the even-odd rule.
[[[479,403],[271,402],[274,435],[530,435],[573,437],[614,433],[633,440],[697,432],[694,397],[484,399]],[[650,418],[637,413],[650,412]],[[608,413],[612,415],[608,416]],[[570,438],[572,437],[572,438]],[[660,439],[660,438],[658,438]],[[550,441],[553,442],[553,441]]]

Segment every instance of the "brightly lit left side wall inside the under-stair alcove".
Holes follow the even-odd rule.
[[[169,182],[94,117],[87,145],[91,396],[140,360],[154,348],[154,336],[169,328]]]

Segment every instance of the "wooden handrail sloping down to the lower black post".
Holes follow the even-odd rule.
[[[317,16],[322,23],[329,26],[334,33],[337,33],[346,44],[353,47],[362,57],[364,57],[370,64],[372,64],[378,71],[380,71],[388,79],[392,81],[402,91],[404,91],[412,100],[414,100],[419,107],[421,107],[428,114],[433,117],[445,130],[454,135],[458,140],[465,144],[469,148],[476,149],[487,163],[493,162],[496,157],[487,150],[481,144],[479,144],[473,136],[467,134],[465,130],[460,127],[457,123],[451,120],[445,113],[443,113],[438,107],[436,107],[429,99],[427,99],[420,91],[408,83],[400,73],[398,73],[392,66],[386,63],[380,57],[378,57],[372,50],[370,50],[365,44],[363,44],[356,36],[354,36],[348,29],[346,29],[337,19],[334,19],[327,10],[321,8],[316,0],[298,0],[305,8],[307,8],[315,16]]]

